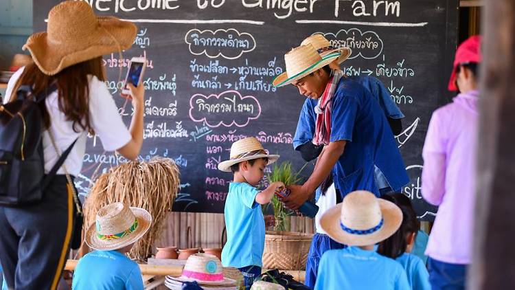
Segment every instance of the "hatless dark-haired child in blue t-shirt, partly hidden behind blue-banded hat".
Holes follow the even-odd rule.
[[[411,201],[402,193],[386,194],[381,197],[395,203],[402,211],[402,224],[399,230],[382,241],[378,253],[396,259],[406,271],[408,282],[413,290],[431,290],[429,274],[422,260],[410,254],[415,243],[415,236],[420,228],[417,214],[413,210]]]

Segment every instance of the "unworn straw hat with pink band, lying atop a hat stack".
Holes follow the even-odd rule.
[[[209,254],[193,254],[186,260],[183,274],[180,277],[170,277],[179,282],[196,281],[200,285],[234,286],[236,280],[225,278],[220,259]]]

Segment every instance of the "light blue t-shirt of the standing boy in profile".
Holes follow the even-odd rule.
[[[262,267],[264,218],[255,196],[260,190],[249,183],[231,182],[225,200],[227,243],[222,249],[224,267]]]

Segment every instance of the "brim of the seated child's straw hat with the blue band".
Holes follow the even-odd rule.
[[[390,201],[386,201],[384,199],[379,199],[379,207],[382,213],[382,218],[384,219],[384,223],[380,230],[374,232],[372,234],[350,234],[341,229],[340,226],[340,217],[341,217],[341,205],[342,203],[337,204],[333,208],[330,208],[320,220],[320,226],[322,229],[328,233],[334,241],[342,243],[344,245],[349,246],[365,246],[365,245],[375,245],[380,241],[384,241],[389,238],[393,233],[395,233],[400,224],[402,223],[402,212],[397,205],[391,203]]]

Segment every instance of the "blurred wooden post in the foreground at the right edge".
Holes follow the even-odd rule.
[[[474,260],[468,289],[515,289],[515,1],[483,22]]]

